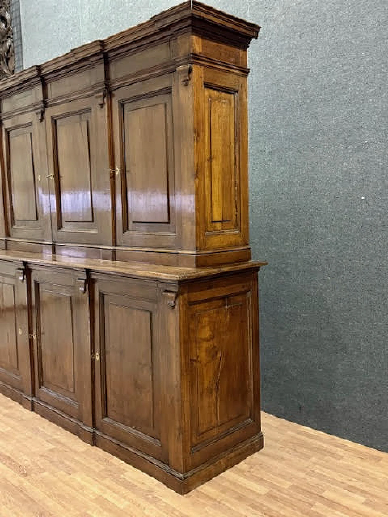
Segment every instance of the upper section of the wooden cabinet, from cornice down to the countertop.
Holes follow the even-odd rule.
[[[1,81],[5,246],[249,259],[247,49],[259,29],[185,2]]]

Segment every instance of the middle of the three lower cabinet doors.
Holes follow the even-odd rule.
[[[79,279],[79,281],[78,281]],[[92,427],[91,341],[85,273],[32,272],[35,398]]]

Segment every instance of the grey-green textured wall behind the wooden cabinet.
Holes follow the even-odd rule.
[[[176,3],[20,0],[24,65]],[[388,451],[388,4],[207,3],[263,26],[249,54],[263,408]]]

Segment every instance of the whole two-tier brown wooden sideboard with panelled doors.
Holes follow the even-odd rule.
[[[185,2],[0,81],[0,392],[182,494],[263,447],[259,29]]]

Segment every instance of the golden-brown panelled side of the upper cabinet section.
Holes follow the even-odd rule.
[[[247,247],[247,79],[199,66],[193,78],[197,245],[202,251]]]

